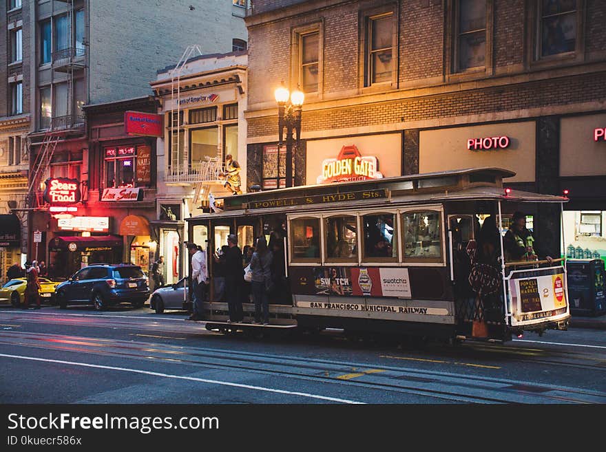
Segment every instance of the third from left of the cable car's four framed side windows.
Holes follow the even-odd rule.
[[[397,261],[397,230],[393,213],[362,217],[364,227],[364,260]]]

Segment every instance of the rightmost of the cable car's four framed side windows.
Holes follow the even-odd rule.
[[[404,261],[441,262],[441,215],[436,211],[402,214]]]

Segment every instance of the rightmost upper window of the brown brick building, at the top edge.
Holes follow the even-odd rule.
[[[541,0],[539,55],[574,52],[576,49],[576,0]]]

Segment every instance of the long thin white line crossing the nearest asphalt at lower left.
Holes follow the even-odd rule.
[[[128,367],[114,367],[114,366],[105,366],[105,365],[100,365],[100,364],[76,363],[75,361],[64,361],[64,360],[49,359],[49,358],[36,358],[34,356],[17,356],[17,355],[3,354],[3,353],[0,353],[0,357],[23,359],[23,360],[30,360],[30,361],[41,361],[43,363],[56,363],[56,364],[65,364],[65,365],[80,366],[80,367],[92,367],[94,369],[116,370],[116,371],[120,371],[120,372],[131,372],[132,374],[143,374],[143,375],[159,376],[159,377],[163,377],[163,378],[174,378],[175,380],[197,381],[199,383],[209,383],[211,385],[239,387],[242,389],[253,389],[255,391],[274,392],[276,394],[286,394],[288,396],[315,398],[315,399],[328,400],[331,402],[338,402],[338,403],[348,403],[348,404],[356,404],[356,405],[364,404],[364,402],[357,402],[355,400],[347,400],[347,399],[343,399],[343,398],[320,396],[318,394],[309,394],[307,392],[286,391],[284,389],[275,389],[275,388],[253,386],[253,385],[244,385],[242,383],[231,383],[228,381],[208,380],[207,378],[197,378],[197,377],[191,377],[191,376],[185,376],[185,375],[163,374],[160,372],[151,372],[149,370],[129,369]]]

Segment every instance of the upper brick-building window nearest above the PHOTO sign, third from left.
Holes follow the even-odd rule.
[[[454,8],[454,72],[486,63],[486,0],[459,0]]]

